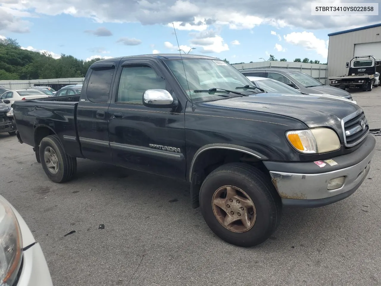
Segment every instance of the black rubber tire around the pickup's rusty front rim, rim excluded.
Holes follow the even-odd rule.
[[[254,202],[256,220],[246,232],[234,232],[216,218],[212,198],[216,190],[225,185],[245,191]],[[243,163],[222,165],[205,178],[200,189],[200,208],[210,229],[224,241],[242,247],[252,247],[266,241],[279,226],[282,201],[271,179],[259,169]]]

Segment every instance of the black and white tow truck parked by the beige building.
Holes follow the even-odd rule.
[[[381,59],[373,56],[355,56],[346,63],[349,67],[347,76],[329,77],[330,85],[345,90],[346,88],[362,88],[370,92],[379,85]]]

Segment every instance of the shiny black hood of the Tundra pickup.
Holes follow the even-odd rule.
[[[341,119],[360,109],[358,105],[350,101],[281,93],[258,93],[203,104],[279,114],[298,119],[308,127],[330,126],[338,134],[342,133]]]

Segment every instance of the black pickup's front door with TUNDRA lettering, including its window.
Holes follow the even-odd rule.
[[[185,178],[185,118],[181,104],[150,108],[148,89],[173,89],[149,61],[125,61],[117,71],[109,106],[109,138],[115,165],[172,178]],[[116,90],[115,90],[116,89]]]

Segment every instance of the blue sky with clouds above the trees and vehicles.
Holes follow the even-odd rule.
[[[356,25],[348,27],[346,16],[311,16],[309,1],[269,0],[267,5],[274,2],[277,8],[264,6],[262,11],[240,8],[241,4],[255,6],[256,1],[232,5],[221,0],[216,2],[219,6],[209,3],[213,1],[208,1],[208,7],[205,2],[182,0],[63,0],[53,5],[47,0],[5,0],[0,4],[0,36],[54,57],[176,53],[171,27],[175,22],[181,48],[187,52],[194,47],[193,54],[227,58],[231,63],[262,61],[259,58],[267,59],[269,54],[288,61],[307,57],[325,63],[328,33],[380,22],[379,16],[355,16],[350,23]],[[226,7],[221,10],[221,6]]]

